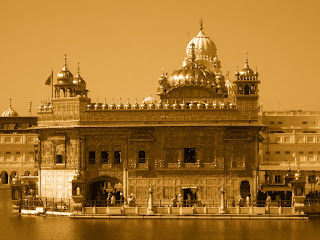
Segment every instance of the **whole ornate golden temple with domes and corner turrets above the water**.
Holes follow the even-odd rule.
[[[227,200],[255,199],[263,126],[248,59],[232,82],[201,26],[182,67],[158,81],[158,97],[141,104],[92,102],[65,59],[54,98],[38,110],[40,196],[90,203],[112,191],[145,204],[153,187],[155,202],[208,204],[224,186]]]

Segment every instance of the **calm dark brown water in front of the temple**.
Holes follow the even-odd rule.
[[[0,239],[320,239],[320,219],[163,220],[69,219],[11,213],[10,189],[0,189]]]

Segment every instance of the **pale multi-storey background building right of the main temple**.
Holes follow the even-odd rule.
[[[320,112],[264,111],[268,125],[265,158],[260,162],[262,190],[291,191],[286,176],[298,169],[306,181],[306,194],[320,190]]]

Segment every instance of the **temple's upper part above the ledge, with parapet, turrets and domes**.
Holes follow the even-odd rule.
[[[55,98],[39,107],[39,126],[251,125],[258,121],[258,74],[248,65],[232,82],[225,77],[216,45],[203,32],[187,46],[182,67],[159,78],[160,101],[149,96],[142,104],[92,102],[86,82],[74,78],[66,58],[58,74]],[[249,90],[248,90],[249,89]]]

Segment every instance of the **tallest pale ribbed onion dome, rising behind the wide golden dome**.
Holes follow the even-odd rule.
[[[196,37],[194,37],[187,46],[187,56],[191,56],[191,44],[195,46],[195,55],[196,59],[208,59],[213,61],[213,58],[217,54],[217,48],[214,42],[207,37],[204,32],[202,31],[202,27],[200,27],[200,32]]]

